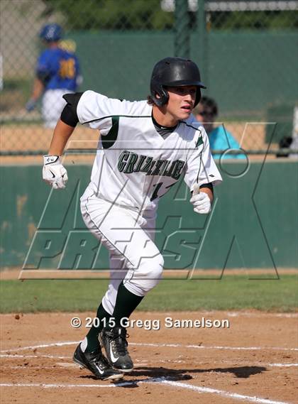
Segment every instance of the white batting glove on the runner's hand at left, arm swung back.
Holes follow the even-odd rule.
[[[67,183],[67,170],[61,164],[59,155],[43,156],[43,180],[54,190],[62,190]]]

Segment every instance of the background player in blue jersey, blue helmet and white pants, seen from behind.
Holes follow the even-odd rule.
[[[62,28],[58,24],[44,26],[40,31],[40,38],[44,41],[46,49],[38,58],[33,90],[26,109],[32,111],[43,95],[42,114],[45,126],[55,128],[66,105],[62,96],[75,92],[82,78],[79,75],[79,61],[75,53],[60,46]]]

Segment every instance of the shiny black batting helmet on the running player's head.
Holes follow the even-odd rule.
[[[201,99],[201,88],[206,88],[201,82],[199,67],[189,59],[165,58],[156,63],[153,68],[150,92],[153,101],[158,107],[167,104],[169,94],[165,87],[197,86],[194,107]],[[156,94],[160,98],[156,97]]]

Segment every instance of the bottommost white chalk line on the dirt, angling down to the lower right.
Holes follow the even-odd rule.
[[[0,387],[40,387],[40,388],[115,388],[136,386],[138,383],[158,383],[166,384],[177,388],[196,391],[197,393],[217,394],[223,397],[235,398],[236,400],[246,400],[251,403],[260,404],[288,404],[285,401],[268,400],[267,398],[258,398],[251,395],[243,395],[238,393],[229,393],[228,391],[219,390],[216,388],[193,386],[191,384],[182,383],[179,381],[171,381],[165,377],[148,378],[143,381],[124,381],[116,384],[48,384],[48,383],[0,383]]]

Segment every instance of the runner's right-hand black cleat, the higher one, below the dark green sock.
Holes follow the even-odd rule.
[[[99,342],[106,350],[109,364],[121,372],[130,372],[133,370],[133,361],[128,354],[126,337],[126,329],[124,327],[103,329],[99,334]]]

